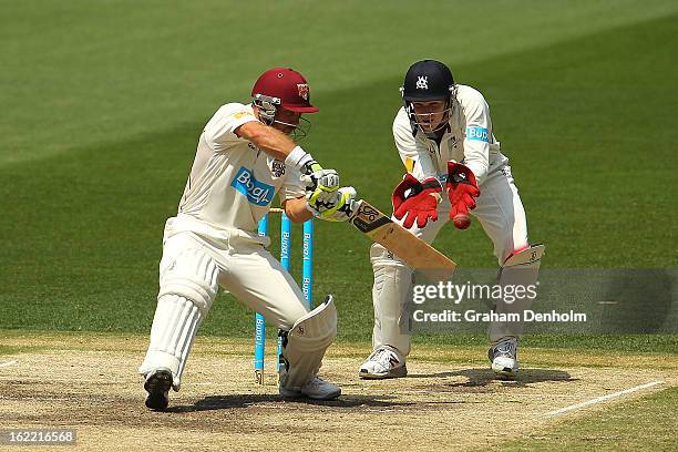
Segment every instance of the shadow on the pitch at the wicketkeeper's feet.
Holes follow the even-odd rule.
[[[464,377],[465,382],[451,382],[449,387],[485,387],[494,381],[501,381],[506,386],[526,387],[531,383],[542,383],[545,381],[554,382],[571,382],[578,381],[578,378],[572,376],[564,370],[554,369],[522,369],[515,378],[500,377],[491,369],[462,369],[453,372],[435,372],[435,373],[410,373],[408,378],[453,378]]]

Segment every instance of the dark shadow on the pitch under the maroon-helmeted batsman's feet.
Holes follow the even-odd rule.
[[[409,407],[411,402],[394,402],[396,396],[341,396],[336,400],[311,400],[311,399],[282,399],[276,394],[234,394],[234,396],[209,396],[196,401],[192,405],[177,405],[166,409],[166,412],[187,413],[195,411],[229,410],[249,408],[257,404],[276,403],[286,408],[299,408],[302,405],[320,405],[332,408],[388,408]]]

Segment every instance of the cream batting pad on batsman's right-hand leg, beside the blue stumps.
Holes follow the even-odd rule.
[[[331,295],[297,320],[282,340],[280,386],[299,391],[320,369],[325,351],[337,337],[337,309]]]

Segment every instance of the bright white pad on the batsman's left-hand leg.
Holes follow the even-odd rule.
[[[216,297],[218,268],[201,249],[186,249],[161,275],[151,343],[138,372],[158,368],[172,371],[175,391],[197,329]]]

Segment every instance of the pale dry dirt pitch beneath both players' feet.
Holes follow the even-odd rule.
[[[409,378],[363,381],[355,356],[368,350],[340,346],[321,373],[343,396],[307,403],[277,397],[273,357],[266,384],[254,384],[249,341],[198,339],[170,410],[151,412],[135,374],[144,338],[56,337],[2,341],[25,350],[0,358],[17,361],[0,367],[2,424],[73,428],[79,449],[95,451],[469,450],[557,422],[544,417],[556,408],[653,380],[665,381],[656,389],[676,384],[666,370],[573,366],[527,368],[516,381],[502,381],[482,355],[456,348],[449,352],[476,359],[460,366],[431,360],[435,353],[421,355],[425,362],[414,356]],[[525,351],[527,367],[528,358]]]

